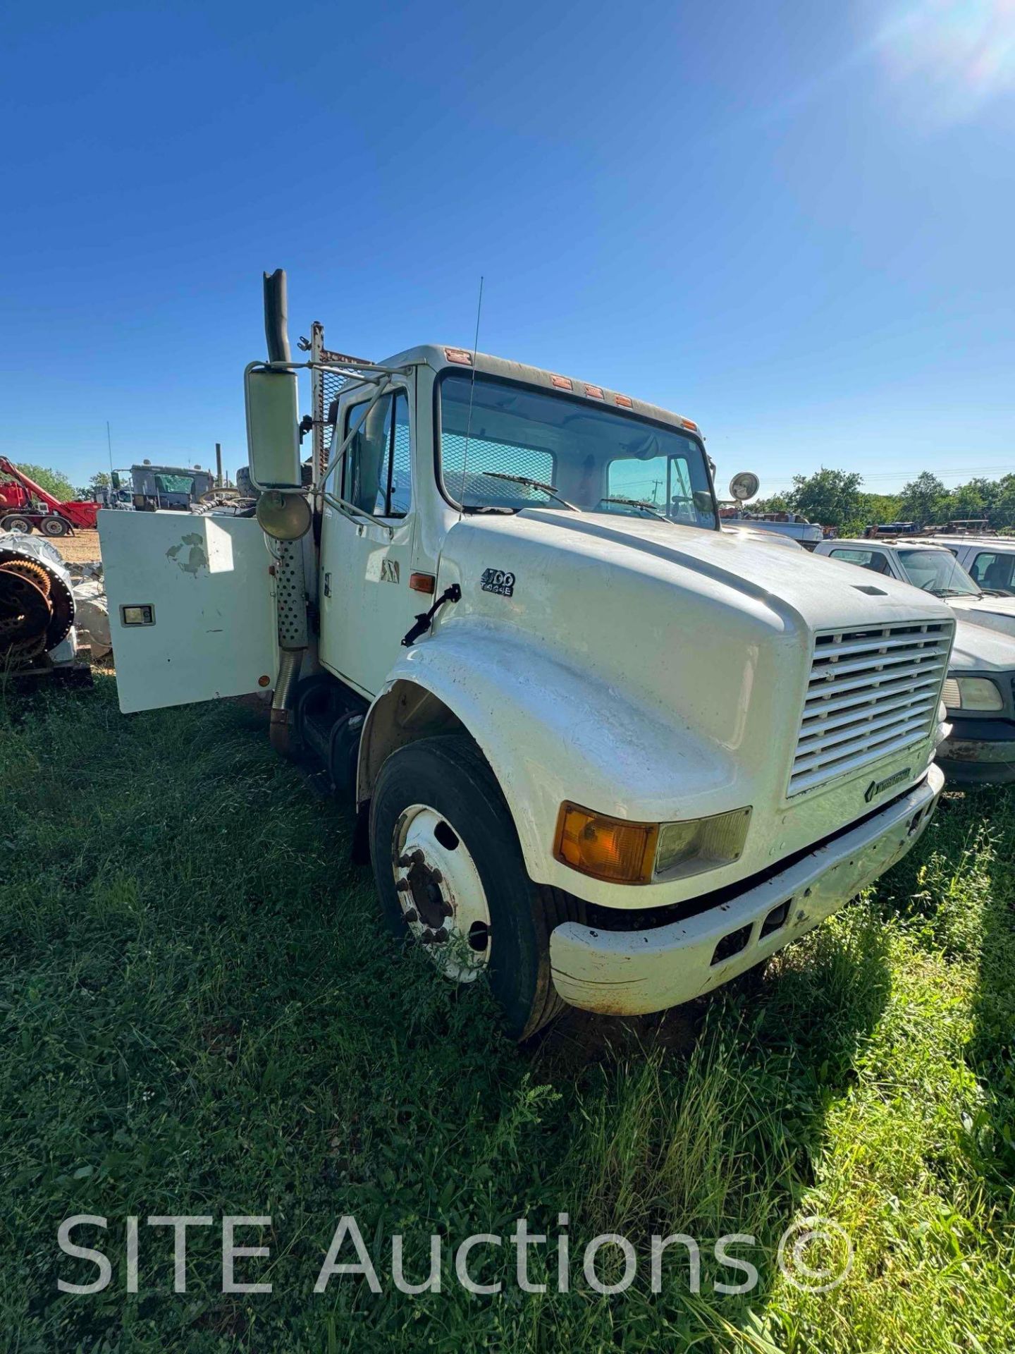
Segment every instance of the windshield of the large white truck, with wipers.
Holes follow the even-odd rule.
[[[574,505],[716,527],[696,437],[490,376],[441,380],[440,473],[448,497],[466,512]]]

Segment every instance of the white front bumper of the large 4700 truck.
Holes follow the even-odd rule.
[[[696,917],[635,932],[564,922],[549,937],[554,986],[571,1006],[639,1016],[728,983],[831,917],[900,860],[930,822],[943,784],[931,765],[880,814]]]

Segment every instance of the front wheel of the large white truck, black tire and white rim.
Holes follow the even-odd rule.
[[[508,804],[475,743],[425,738],[380,769],[369,815],[380,903],[397,936],[453,983],[486,974],[508,1032],[525,1039],[563,1009],[549,933],[583,906],[529,879]]]

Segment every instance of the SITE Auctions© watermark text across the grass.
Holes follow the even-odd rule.
[[[187,1236],[191,1228],[221,1227],[222,1232],[222,1292],[223,1293],[271,1293],[272,1284],[257,1280],[254,1262],[271,1261],[271,1247],[264,1242],[264,1231],[272,1227],[271,1215],[227,1215],[217,1220],[210,1215],[156,1215],[142,1221],[129,1216],[125,1220],[125,1290],[138,1292],[141,1235],[143,1228],[172,1228],[173,1231],[173,1292],[187,1292]],[[639,1252],[635,1246],[618,1232],[601,1232],[583,1247],[572,1247],[568,1232],[568,1215],[558,1215],[558,1231],[551,1236],[545,1232],[529,1231],[528,1219],[520,1217],[506,1236],[495,1232],[475,1232],[457,1246],[451,1246],[441,1235],[429,1238],[429,1273],[422,1278],[406,1277],[405,1236],[395,1232],[390,1238],[390,1266],[379,1257],[371,1255],[356,1219],[342,1215],[332,1235],[330,1244],[315,1269],[314,1292],[325,1293],[329,1284],[345,1277],[367,1284],[371,1292],[380,1293],[386,1280],[399,1293],[440,1293],[445,1282],[456,1282],[466,1292],[476,1296],[490,1296],[503,1292],[505,1281],[494,1278],[491,1267],[497,1267],[510,1247],[514,1248],[514,1284],[522,1293],[545,1293],[549,1286],[559,1293],[567,1293],[578,1281],[578,1273],[595,1293],[623,1293],[635,1282],[639,1267],[644,1274],[647,1263],[648,1281],[652,1293],[660,1293],[664,1280],[675,1273],[686,1275],[692,1293],[701,1292],[702,1246],[683,1232],[650,1238],[648,1251]],[[80,1282],[84,1274],[74,1273],[72,1281],[57,1280],[61,1293],[100,1293],[112,1282],[112,1261],[106,1250],[97,1246],[84,1246],[81,1240],[100,1242],[97,1236],[108,1229],[108,1219],[97,1213],[76,1213],[60,1224],[57,1240],[60,1250],[76,1261],[87,1261],[95,1266],[95,1277]],[[241,1235],[242,1233],[242,1238]],[[256,1236],[252,1233],[257,1233]],[[250,1244],[252,1240],[258,1244]],[[242,1240],[242,1243],[241,1243]],[[541,1278],[529,1274],[529,1259],[533,1251],[547,1247]],[[551,1247],[555,1254],[551,1254]],[[758,1240],[746,1232],[729,1232],[705,1246],[709,1271],[716,1269],[724,1277],[713,1277],[709,1284],[716,1293],[750,1293],[759,1282],[759,1271],[747,1257],[758,1251]],[[853,1244],[838,1223],[823,1217],[797,1219],[781,1236],[777,1250],[780,1273],[794,1288],[809,1293],[827,1293],[846,1278],[853,1266]],[[712,1266],[710,1261],[715,1261]],[[237,1277],[237,1262],[242,1262],[242,1278]],[[683,1266],[679,1271],[675,1266]],[[77,1266],[80,1270],[80,1266]],[[551,1285],[549,1275],[554,1275]],[[453,1278],[452,1278],[453,1275]],[[605,1277],[609,1275],[609,1277]]]

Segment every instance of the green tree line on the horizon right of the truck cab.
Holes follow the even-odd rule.
[[[847,470],[793,475],[793,487],[750,504],[750,512],[797,512],[808,521],[835,527],[840,536],[862,535],[872,523],[915,521],[922,527],[943,525],[958,517],[987,517],[993,531],[1015,531],[1015,475],[1000,479],[969,479],[947,489],[930,470],[923,470],[897,494],[869,494],[863,477]]]

